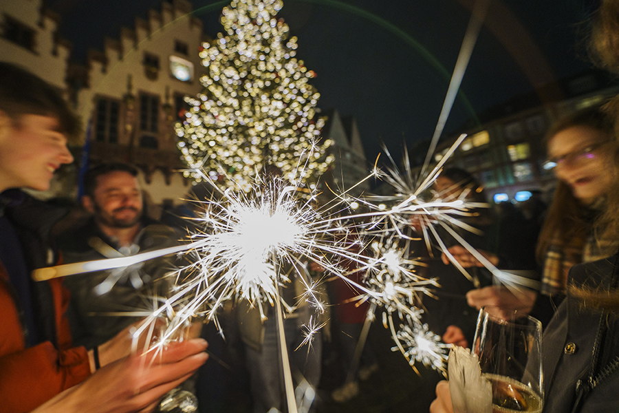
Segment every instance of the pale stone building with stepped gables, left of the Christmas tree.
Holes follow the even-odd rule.
[[[173,125],[184,96],[202,90],[198,54],[207,40],[191,11],[187,0],[162,1],[160,10],[135,19],[77,65],[69,60],[71,44],[58,39],[60,18],[43,0],[0,0],[0,59],[41,76],[71,101],[83,124],[73,148],[82,165],[130,162],[150,202],[173,204],[191,189],[178,172],[184,165]],[[74,198],[77,175],[78,167],[67,165],[50,191],[37,195]]]

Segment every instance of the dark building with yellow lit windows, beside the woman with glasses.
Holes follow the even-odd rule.
[[[593,74],[572,82],[572,87],[582,93],[498,116],[465,129],[463,132],[468,136],[446,165],[473,173],[484,183],[490,200],[495,202],[523,200],[531,191],[550,193],[556,180],[552,171],[543,167],[546,131],[558,118],[578,109],[600,105],[619,92],[618,86],[600,87]],[[583,84],[586,84],[586,91],[582,90]],[[438,145],[435,162],[442,159],[458,136],[451,136]]]

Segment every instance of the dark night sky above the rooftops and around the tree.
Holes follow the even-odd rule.
[[[317,77],[318,107],[356,117],[367,158],[384,141],[394,155],[402,142],[432,136],[472,0],[283,0],[279,13],[298,37],[297,57]],[[226,1],[193,0],[206,34],[215,37]],[[454,131],[489,107],[531,92],[533,84],[587,70],[583,21],[596,1],[492,0],[446,125]],[[60,34],[76,61],[122,25],[160,10],[160,0],[48,0],[61,14]],[[525,67],[528,65],[528,68]],[[465,100],[466,99],[466,100]],[[468,103],[466,103],[468,101]]]

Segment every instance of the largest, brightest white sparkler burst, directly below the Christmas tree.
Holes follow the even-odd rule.
[[[224,301],[237,297],[258,306],[265,317],[263,304],[276,304],[281,299],[278,288],[296,278],[305,286],[303,301],[323,311],[316,293],[318,283],[307,273],[307,261],[340,277],[345,270],[336,264],[338,260],[362,262],[362,255],[334,236],[353,226],[343,227],[344,218],[316,209],[315,194],[303,199],[298,187],[282,178],[263,178],[250,193],[226,189],[219,195],[219,200],[201,202],[205,211],[198,221],[204,230],[192,237],[191,264],[178,271],[177,289],[166,300],[169,306],[181,300],[188,301],[184,308],[206,305],[206,317],[216,319]],[[281,302],[288,311],[294,310],[295,303]],[[184,317],[191,317],[191,311]],[[316,330],[310,328],[312,334]]]

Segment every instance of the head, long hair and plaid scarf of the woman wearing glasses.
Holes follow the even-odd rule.
[[[600,108],[559,120],[547,134],[557,187],[537,244],[544,263],[541,293],[564,294],[569,268],[612,255],[616,242],[595,240],[594,221],[613,182],[613,124]]]

